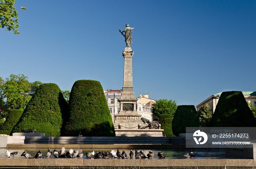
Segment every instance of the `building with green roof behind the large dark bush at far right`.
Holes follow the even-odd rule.
[[[197,105],[196,106],[197,111],[199,111],[200,107],[204,106],[205,104],[208,104],[210,106],[211,115],[214,114],[214,111],[218,104],[221,93],[212,95],[211,97],[209,97],[208,99],[204,100],[202,103]],[[248,101],[249,103],[252,103],[253,107],[256,107],[256,92],[242,92],[242,93],[244,95],[245,100]]]

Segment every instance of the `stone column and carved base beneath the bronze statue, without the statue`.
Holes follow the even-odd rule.
[[[120,112],[115,115],[114,126],[121,124],[123,128],[138,128],[138,124],[142,124],[140,120],[141,115],[138,114],[137,100],[132,85],[132,56],[133,51],[131,47],[125,47],[123,51],[124,57],[124,85],[121,98],[118,99],[120,102]],[[118,128],[118,127],[116,127]]]

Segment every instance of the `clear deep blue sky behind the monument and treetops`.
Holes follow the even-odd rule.
[[[71,91],[76,80],[122,89],[132,31],[133,91],[198,105],[223,91],[256,91],[255,0],[16,0],[19,35],[0,29],[0,77]]]

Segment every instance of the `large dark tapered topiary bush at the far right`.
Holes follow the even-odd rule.
[[[256,127],[242,92],[222,92],[208,127]]]

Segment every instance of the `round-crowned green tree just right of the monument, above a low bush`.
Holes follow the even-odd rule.
[[[175,100],[159,99],[156,100],[153,105],[153,114],[155,119],[158,119],[161,114],[170,114],[173,117],[177,109]]]

